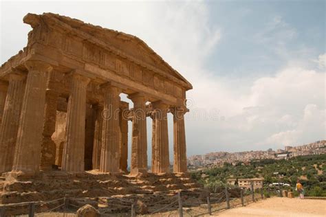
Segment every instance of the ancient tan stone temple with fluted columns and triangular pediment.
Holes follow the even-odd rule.
[[[28,45],[0,68],[0,174],[127,172],[128,133],[131,174],[146,173],[146,118],[153,119],[152,172],[170,172],[168,113],[173,172],[186,172],[192,86],[180,73],[129,34],[50,13],[23,21],[32,27]]]

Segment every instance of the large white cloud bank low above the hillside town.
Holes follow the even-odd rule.
[[[325,72],[289,66],[249,86],[221,80],[206,82],[206,95],[198,97],[208,100],[202,108],[215,106],[224,118],[189,119],[188,131],[204,135],[191,137],[190,150],[265,150],[325,139]]]

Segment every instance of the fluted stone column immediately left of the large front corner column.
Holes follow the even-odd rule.
[[[12,170],[24,87],[25,76],[11,73],[0,128],[0,174]]]

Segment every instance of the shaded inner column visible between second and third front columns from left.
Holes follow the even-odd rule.
[[[96,121],[94,130],[94,145],[93,145],[93,170],[100,170],[100,152],[102,150],[102,126],[103,126],[103,107],[96,106]]]

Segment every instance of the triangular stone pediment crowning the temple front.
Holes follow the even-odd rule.
[[[162,73],[166,73],[169,76],[177,78],[177,80],[182,81],[185,85],[186,90],[192,89],[191,83],[188,82],[180,73],[173,69],[167,62],[165,62],[162,57],[156,54],[151,47],[146,45],[144,41],[140,38],[133,36],[131,34],[125,34],[124,32],[118,32],[116,30],[110,30],[107,28],[102,28],[98,25],[91,25],[89,23],[84,23],[78,19],[72,19],[68,16],[61,16],[58,14],[44,13],[42,15],[28,14],[25,16],[25,23],[30,25],[37,25],[41,21],[50,22],[60,22],[63,23],[66,28],[71,28],[73,30],[78,30],[85,32],[88,35],[93,36],[96,40],[100,40],[109,47],[113,47],[116,50],[132,56],[140,62],[144,62],[151,67],[160,69]]]

